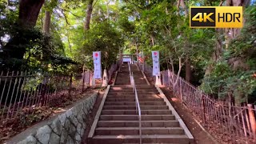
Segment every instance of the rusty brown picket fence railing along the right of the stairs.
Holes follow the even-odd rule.
[[[150,68],[146,68],[148,73]],[[151,72],[152,73],[152,72]],[[202,121],[208,129],[218,130],[219,134],[231,136],[232,141],[242,139],[245,141],[256,140],[256,106],[225,105],[204,94],[195,86],[186,82],[170,70],[164,70],[162,85],[170,87],[174,95]],[[150,74],[149,74],[150,75]],[[152,74],[150,75],[152,76]],[[176,81],[178,78],[178,81]],[[174,83],[176,82],[176,85]]]

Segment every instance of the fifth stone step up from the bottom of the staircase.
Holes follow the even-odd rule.
[[[138,114],[136,110],[102,110],[102,114]],[[170,110],[142,110],[142,114],[172,114]]]

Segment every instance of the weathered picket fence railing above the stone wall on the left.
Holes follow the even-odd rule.
[[[119,62],[108,70],[109,78]],[[47,74],[31,72],[0,72],[0,121],[14,118],[22,109],[53,106],[63,98],[81,94],[91,84],[91,71],[82,74]]]

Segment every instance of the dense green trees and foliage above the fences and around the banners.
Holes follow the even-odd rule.
[[[189,6],[243,6],[245,26],[191,29]],[[32,12],[31,12],[32,11]],[[92,51],[109,68],[120,52],[159,50],[174,69],[214,98],[255,102],[254,0],[1,0],[0,69],[92,69]]]

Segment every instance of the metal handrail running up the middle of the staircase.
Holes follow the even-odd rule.
[[[133,87],[133,91],[135,94],[135,102],[136,102],[136,112],[138,114],[138,122],[139,122],[139,143],[142,144],[142,111],[141,111],[141,106],[139,105],[138,102],[138,93],[136,89],[136,85],[134,82],[134,73],[130,71],[130,64],[129,66],[129,72],[130,72],[130,85]]]

